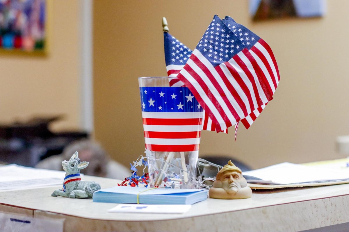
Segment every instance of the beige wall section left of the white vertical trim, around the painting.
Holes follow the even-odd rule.
[[[54,129],[80,127],[80,1],[51,3],[48,55],[0,54],[0,122],[64,114]]]

